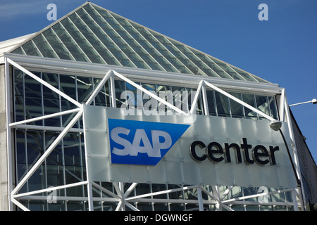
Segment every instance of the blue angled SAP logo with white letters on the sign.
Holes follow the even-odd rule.
[[[189,125],[108,119],[111,163],[156,165]]]

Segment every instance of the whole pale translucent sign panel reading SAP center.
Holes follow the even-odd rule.
[[[294,188],[285,143],[268,123],[204,115],[133,116],[120,108],[86,106],[89,179]]]

